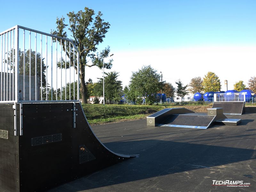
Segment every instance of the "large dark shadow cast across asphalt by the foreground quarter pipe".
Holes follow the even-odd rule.
[[[248,139],[248,136],[250,135],[247,134],[238,138],[239,140]],[[198,139],[203,138],[197,138],[197,142],[200,141]],[[253,149],[193,144],[191,141],[188,143],[184,140],[183,142],[178,140],[179,138],[177,141],[149,139],[104,143],[108,148],[117,150],[118,153],[126,154],[129,151],[131,154],[140,154],[140,156],[53,188],[49,192],[78,192],[178,172],[202,168],[211,169],[213,166],[254,159],[255,150]],[[216,140],[216,137],[213,140]],[[234,143],[236,142],[234,140]],[[236,168],[242,169],[244,165],[240,166]],[[196,172],[195,177],[200,177],[200,170]]]

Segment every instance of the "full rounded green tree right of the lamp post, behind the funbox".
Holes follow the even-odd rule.
[[[143,66],[139,71],[132,72],[130,81],[130,91],[137,97],[142,97],[146,100],[146,103],[152,103],[155,100],[156,92],[159,92],[163,88],[163,84],[160,81],[161,75],[156,73],[156,70],[151,66]],[[163,82],[164,83],[164,82]]]

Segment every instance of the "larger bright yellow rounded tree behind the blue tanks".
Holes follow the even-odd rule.
[[[208,72],[203,78],[203,87],[204,92],[220,91],[221,85],[219,77],[213,72]]]

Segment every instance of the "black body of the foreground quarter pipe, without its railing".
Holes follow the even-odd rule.
[[[80,103],[23,103],[22,110],[23,135],[14,136],[13,104],[0,104],[0,191],[45,191],[134,157],[105,147]]]

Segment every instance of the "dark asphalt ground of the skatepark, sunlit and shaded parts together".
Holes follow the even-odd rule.
[[[48,192],[256,191],[256,114],[227,117],[242,122],[208,129],[150,127],[146,119],[92,126],[110,150],[140,156]]]

